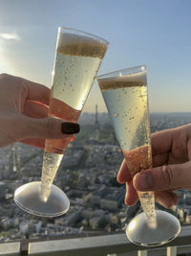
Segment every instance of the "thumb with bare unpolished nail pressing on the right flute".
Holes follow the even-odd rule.
[[[134,176],[133,184],[138,191],[191,188],[191,162],[141,171]]]

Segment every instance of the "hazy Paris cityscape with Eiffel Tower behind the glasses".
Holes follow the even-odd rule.
[[[151,113],[151,131],[191,123],[191,113]],[[117,183],[123,160],[107,113],[82,113],[81,131],[68,147],[53,181],[70,198],[67,214],[32,216],[13,201],[16,188],[40,180],[43,151],[16,143],[0,149],[0,241],[48,239],[122,232],[141,210],[124,204],[125,185]],[[191,193],[179,190],[179,203],[168,209],[181,224],[191,223]],[[159,203],[156,208],[166,210]]]

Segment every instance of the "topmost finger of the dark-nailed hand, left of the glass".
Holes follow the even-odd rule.
[[[43,104],[49,105],[51,89],[43,84],[21,79],[21,81],[28,88],[27,100],[41,102]]]

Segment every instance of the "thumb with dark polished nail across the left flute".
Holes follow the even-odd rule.
[[[17,122],[16,130],[16,139],[19,140],[26,138],[61,139],[79,132],[79,125],[55,117],[36,119],[22,115]]]

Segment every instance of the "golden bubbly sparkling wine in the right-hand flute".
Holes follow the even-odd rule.
[[[145,72],[97,79],[117,140],[132,176],[152,167],[150,126]],[[149,223],[155,222],[153,193],[139,193]]]

